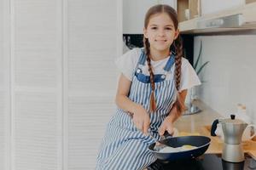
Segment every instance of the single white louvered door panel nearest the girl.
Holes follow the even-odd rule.
[[[106,124],[115,108],[121,49],[118,0],[67,0],[66,170],[94,169]]]

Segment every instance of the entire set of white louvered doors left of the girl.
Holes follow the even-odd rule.
[[[94,169],[121,20],[118,0],[0,0],[0,170]]]

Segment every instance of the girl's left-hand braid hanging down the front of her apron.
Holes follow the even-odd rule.
[[[150,75],[150,84],[151,84],[151,88],[152,88],[152,92],[151,92],[151,95],[150,95],[150,111],[155,111],[156,110],[156,104],[155,104],[155,100],[154,100],[154,89],[155,89],[155,86],[154,86],[154,72],[153,72],[153,69],[152,69],[152,65],[151,65],[151,62],[150,62],[150,44],[148,42],[148,38],[143,38],[143,42],[144,42],[144,48],[145,48],[145,52],[146,52],[146,55],[147,55],[147,63],[148,63],[148,72],[149,72],[149,75]]]

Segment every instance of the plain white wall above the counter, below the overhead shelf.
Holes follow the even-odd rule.
[[[256,33],[256,31],[255,31]],[[202,40],[202,61],[210,61],[201,73],[200,98],[223,116],[247,106],[256,123],[256,35],[195,37],[197,56]]]

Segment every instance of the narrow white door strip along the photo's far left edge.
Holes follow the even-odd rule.
[[[9,164],[9,14],[7,1],[0,1],[0,169]]]

